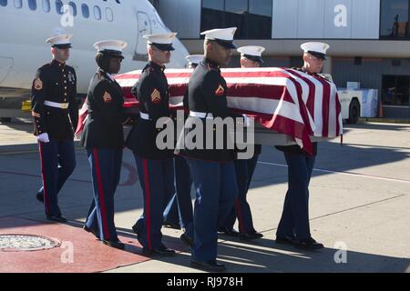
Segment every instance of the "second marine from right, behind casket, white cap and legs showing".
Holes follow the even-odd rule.
[[[238,48],[238,52],[241,53],[241,67],[259,67],[263,63],[261,53],[264,50],[265,48],[263,46],[257,45],[247,45]],[[239,194],[224,226],[219,229],[222,234],[228,236],[239,235],[241,239],[245,240],[261,238],[263,236],[261,233],[258,233],[253,226],[251,206],[249,206],[246,200],[259,155],[261,155],[261,145],[255,145],[254,154],[250,159],[236,159],[233,162],[235,165]],[[239,234],[233,229],[236,218],[238,218]]]

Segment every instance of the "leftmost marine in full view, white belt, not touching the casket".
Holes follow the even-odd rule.
[[[57,194],[76,167],[74,128],[77,126],[77,76],[66,65],[72,35],[56,35],[46,40],[51,44],[53,61],[40,67],[32,86],[34,132],[40,150],[43,186],[37,199],[44,202],[46,217],[67,221],[61,215]]]

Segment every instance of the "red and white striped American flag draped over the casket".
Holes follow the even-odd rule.
[[[165,71],[169,83],[169,106],[181,107],[190,81],[190,69]],[[334,138],[343,134],[341,105],[336,86],[318,75],[307,75],[290,68],[222,69],[228,85],[228,106],[255,118],[260,125],[290,135],[306,152],[312,153],[310,136]],[[141,71],[117,75],[123,88],[125,107],[138,105],[131,94]],[[77,127],[87,118],[83,105]]]

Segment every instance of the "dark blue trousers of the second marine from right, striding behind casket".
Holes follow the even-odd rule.
[[[254,232],[251,207],[246,200],[251,179],[258,163],[259,155],[254,155],[247,160],[235,160],[236,179],[238,182],[239,194],[235,200],[235,205],[231,209],[224,226],[228,229],[233,228],[236,218],[238,218],[238,226],[240,233]]]

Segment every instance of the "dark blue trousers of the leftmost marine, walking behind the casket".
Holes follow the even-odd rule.
[[[61,216],[57,194],[76,168],[76,154],[72,140],[39,142],[41,173],[46,216]]]

